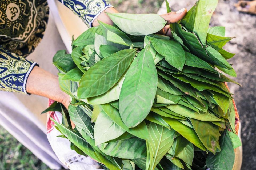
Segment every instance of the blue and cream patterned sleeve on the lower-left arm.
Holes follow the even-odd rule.
[[[27,94],[27,77],[35,65],[37,63],[0,46],[0,91]]]

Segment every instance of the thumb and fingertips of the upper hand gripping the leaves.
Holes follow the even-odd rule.
[[[158,33],[171,36],[170,24],[180,21],[186,14],[187,14],[187,9],[183,8],[177,12],[169,12],[167,14],[160,15],[167,21],[167,23],[166,23],[166,26]]]

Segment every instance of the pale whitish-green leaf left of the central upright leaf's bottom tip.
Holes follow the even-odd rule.
[[[125,130],[115,124],[105,112],[99,113],[94,125],[95,145],[118,138],[123,133],[125,133]]]

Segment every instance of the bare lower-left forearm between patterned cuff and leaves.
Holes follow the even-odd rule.
[[[26,91],[40,95],[68,105],[69,95],[61,91],[59,80],[56,75],[35,66],[27,78]]]

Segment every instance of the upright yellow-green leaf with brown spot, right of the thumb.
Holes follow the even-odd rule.
[[[197,4],[193,32],[205,43],[211,16],[218,4],[218,0],[209,3],[208,0],[200,0]]]

